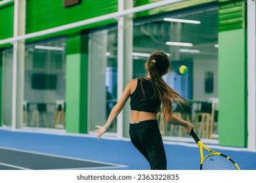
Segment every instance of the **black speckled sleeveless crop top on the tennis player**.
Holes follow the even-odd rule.
[[[142,93],[142,87],[144,94]],[[154,96],[152,82],[143,78],[138,78],[135,92],[131,93],[131,110],[157,113],[161,105],[158,97]]]

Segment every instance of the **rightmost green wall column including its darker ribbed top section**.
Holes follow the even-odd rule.
[[[219,7],[219,144],[247,146],[247,58],[243,1]]]

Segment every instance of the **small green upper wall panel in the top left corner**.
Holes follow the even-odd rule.
[[[13,36],[13,3],[0,7],[0,40]]]

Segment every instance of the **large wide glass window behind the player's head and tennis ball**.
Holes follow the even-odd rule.
[[[182,110],[175,109],[175,114],[196,125],[196,132],[203,138],[211,138],[217,133],[217,106],[215,112],[211,110],[218,97],[217,25],[215,7],[165,14],[134,24],[133,77],[146,76],[144,63],[151,52],[161,50],[167,53],[171,59],[171,71],[163,79],[191,104]],[[179,72],[181,65],[188,68],[185,75]],[[203,123],[211,122],[213,127],[207,131]],[[160,122],[163,135],[186,136],[182,129],[175,128]]]

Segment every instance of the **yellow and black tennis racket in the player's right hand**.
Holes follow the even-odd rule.
[[[201,156],[200,170],[240,170],[238,164],[236,164],[230,157],[205,146],[193,129],[191,130],[190,135],[199,146]],[[203,149],[210,152],[210,154],[203,157]]]

